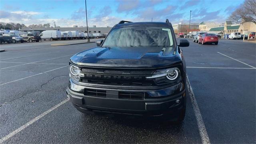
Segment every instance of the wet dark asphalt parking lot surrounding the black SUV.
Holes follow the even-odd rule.
[[[256,44],[188,40],[196,101],[188,96],[181,125],[78,112],[65,92],[69,58],[96,43],[1,45],[0,143],[256,143]]]

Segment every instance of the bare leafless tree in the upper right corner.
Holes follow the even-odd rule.
[[[244,3],[230,15],[230,19],[237,23],[253,22],[256,24],[256,0],[245,0]]]

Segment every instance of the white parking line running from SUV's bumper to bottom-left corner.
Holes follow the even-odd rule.
[[[6,136],[4,136],[3,138],[0,139],[0,144],[5,142],[6,140],[8,140],[9,138],[11,138],[12,136],[14,136],[15,134],[17,134],[18,132],[24,130],[26,127],[30,126],[31,124],[33,124],[34,122],[38,121],[40,118],[44,117],[46,114],[49,114],[50,112],[52,112],[53,110],[55,110],[56,108],[58,108],[59,106],[61,106],[62,104],[65,104],[66,102],[69,101],[69,98],[63,100],[62,102],[56,104],[55,106],[53,106],[52,108],[50,108],[49,110],[46,110],[44,113],[40,114],[39,116],[33,118],[32,120],[30,120],[29,122],[27,122],[26,124],[24,124],[23,126],[20,126],[18,129],[14,130],[13,132],[7,134]]]

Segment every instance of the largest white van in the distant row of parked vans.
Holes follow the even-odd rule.
[[[42,40],[60,40],[60,30],[45,30],[41,34],[41,39]]]

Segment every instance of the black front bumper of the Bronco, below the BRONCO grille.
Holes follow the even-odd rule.
[[[87,86],[82,87],[88,88]],[[80,112],[84,113],[126,114],[151,117],[168,116],[168,118],[173,116],[176,118],[179,116],[182,108],[186,106],[186,88],[177,94],[168,95],[168,90],[170,89],[171,87],[163,88],[160,90],[140,90],[149,93],[152,93],[152,91],[155,93],[163,91],[166,92],[166,96],[161,96],[160,98],[144,98],[144,100],[124,100],[118,98],[86,96],[85,94],[81,92],[75,92],[70,88],[68,88],[66,92],[74,106]],[[102,88],[100,90],[102,90]],[[118,89],[116,89],[116,91],[118,91]],[[124,91],[132,92],[134,90]],[[179,102],[176,100],[179,100]]]

